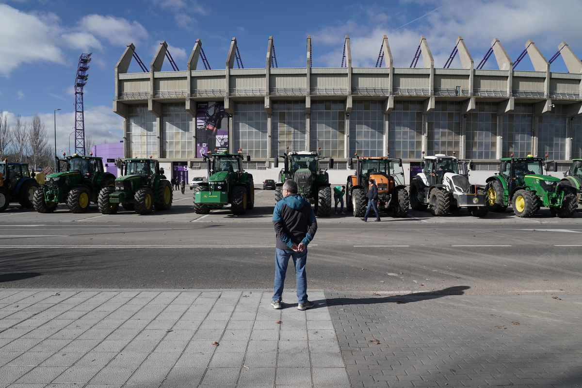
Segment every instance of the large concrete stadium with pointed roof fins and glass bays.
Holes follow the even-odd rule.
[[[115,67],[113,111],[123,117],[123,154],[152,155],[187,179],[205,170],[207,151],[242,148],[251,157],[245,169],[262,181],[276,178],[273,159],[286,147],[321,147],[322,156],[335,159],[332,183],[345,181],[356,153],[389,152],[416,175],[423,151],[454,151],[473,159],[473,176],[483,181],[510,154],[547,154],[560,170],[582,158],[582,63],[566,43],[549,61],[531,41],[516,63],[497,39],[477,66],[461,37],[449,66],[457,53],[461,69],[435,67],[421,37],[410,67],[393,67],[385,36],[377,67],[353,67],[346,36],[342,66],[312,67],[308,37],[306,66],[282,68],[269,37],[265,67],[244,69],[233,38],[225,69],[210,69],[197,40],[180,71],[165,42],[149,69],[130,44]],[[491,54],[498,69],[481,69]],[[534,71],[514,70],[526,55]],[[551,72],[559,55],[569,73]],[[127,72],[132,59],[143,72]],[[161,71],[165,59],[174,71]]]

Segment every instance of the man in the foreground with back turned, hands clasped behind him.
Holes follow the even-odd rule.
[[[283,199],[275,205],[273,226],[276,232],[275,286],[271,305],[281,309],[285,273],[289,258],[293,258],[297,278],[297,309],[313,307],[307,299],[307,245],[317,232],[317,220],[309,202],[297,195],[297,183],[283,183]]]

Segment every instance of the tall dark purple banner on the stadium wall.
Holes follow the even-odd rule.
[[[223,102],[196,103],[196,157],[228,151],[228,114]]]

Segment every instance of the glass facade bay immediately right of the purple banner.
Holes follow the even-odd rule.
[[[267,158],[267,112],[264,102],[237,102],[234,116],[234,148],[251,159]]]

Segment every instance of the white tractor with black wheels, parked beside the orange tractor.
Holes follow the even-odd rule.
[[[436,154],[424,157],[423,172],[410,180],[410,207],[429,208],[434,216],[446,216],[459,208],[468,208],[471,215],[487,215],[485,187],[469,183],[471,161],[454,155]]]

